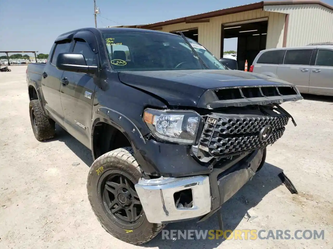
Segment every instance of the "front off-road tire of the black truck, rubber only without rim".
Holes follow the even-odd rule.
[[[101,170],[103,167],[103,170]],[[137,183],[142,177],[141,169],[132,147],[123,147],[105,153],[95,160],[90,167],[87,192],[91,207],[102,227],[114,237],[131,244],[144,244],[152,240],[164,228],[163,224],[150,223],[146,217],[142,224],[133,230],[125,230],[111,220],[103,209],[103,201],[99,197],[99,179],[108,170],[121,170],[133,177]],[[100,173],[98,173],[100,171]],[[102,171],[102,172],[101,172]],[[143,214],[144,215],[144,214]]]

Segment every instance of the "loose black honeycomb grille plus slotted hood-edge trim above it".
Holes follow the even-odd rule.
[[[301,100],[295,86],[246,86],[206,91],[198,106],[212,109],[193,155],[202,162],[231,157],[273,144],[291,115],[279,104]]]

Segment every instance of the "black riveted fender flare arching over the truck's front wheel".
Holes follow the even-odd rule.
[[[95,113],[93,113],[92,121],[93,123],[91,128],[91,150],[94,160],[96,160],[96,158],[94,152],[93,135],[94,135],[95,126],[99,122],[110,124],[113,127],[120,130],[130,141],[131,146],[136,155],[139,149],[146,144],[144,136],[140,132],[139,128],[132,122],[132,120],[130,120],[128,117],[115,110],[112,110],[107,107],[100,107]],[[138,155],[136,159],[139,165],[145,164],[145,161],[143,161],[144,159],[142,158],[142,156]]]

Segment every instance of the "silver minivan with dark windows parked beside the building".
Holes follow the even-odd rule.
[[[333,45],[262,50],[249,71],[288,81],[302,93],[333,96]]]

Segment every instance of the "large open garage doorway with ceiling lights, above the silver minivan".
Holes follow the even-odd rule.
[[[224,39],[237,38],[238,70],[244,70],[245,60],[249,68],[259,51],[266,49],[267,25],[267,18],[222,24],[221,57],[223,57]]]

